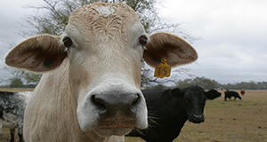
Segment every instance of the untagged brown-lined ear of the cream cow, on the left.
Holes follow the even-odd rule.
[[[67,57],[60,36],[30,37],[16,45],[5,57],[5,64],[32,72],[44,72],[59,67]]]

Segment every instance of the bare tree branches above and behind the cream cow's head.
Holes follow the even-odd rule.
[[[23,33],[25,36],[36,34],[61,35],[68,24],[70,13],[83,4],[94,2],[125,3],[131,6],[139,16],[142,25],[147,33],[158,30],[171,30],[182,33],[184,37],[190,39],[192,36],[182,32],[181,23],[171,23],[170,20],[162,20],[158,17],[156,0],[44,0],[40,5],[28,5],[25,8],[34,8],[36,14],[28,15],[24,20],[29,24],[29,28],[34,31]]]

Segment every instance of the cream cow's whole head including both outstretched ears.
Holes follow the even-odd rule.
[[[148,125],[140,91],[142,58],[152,67],[166,58],[174,67],[190,63],[198,55],[178,36],[148,36],[126,4],[94,3],[72,12],[61,36],[28,38],[8,53],[5,62],[46,72],[69,59],[69,87],[78,101],[80,128],[110,136]]]

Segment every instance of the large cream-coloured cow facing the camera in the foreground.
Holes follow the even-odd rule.
[[[198,55],[178,36],[148,36],[128,5],[101,2],[72,12],[61,36],[19,43],[5,63],[44,73],[26,108],[26,141],[124,141],[134,127],[146,128],[142,58],[174,67]]]

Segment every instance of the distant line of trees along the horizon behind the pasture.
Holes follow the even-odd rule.
[[[12,71],[12,76],[8,78],[8,83],[4,84],[0,87],[8,87],[8,88],[35,88],[37,83],[39,82],[39,79],[41,75],[38,74],[29,74],[28,72],[23,71],[21,72],[15,72],[15,70]],[[152,81],[153,82],[153,81]],[[174,83],[173,80],[170,81],[171,83]],[[165,85],[166,82],[160,83],[153,82],[153,83],[142,83],[142,86],[145,88],[168,88],[170,86]],[[187,78],[184,80],[178,80],[175,82],[174,86],[171,87],[178,87],[178,88],[185,88],[190,85],[198,85],[202,87],[205,90],[267,90],[267,82],[257,82],[254,81],[251,82],[241,82],[241,83],[218,83],[213,79],[206,78],[204,76],[202,77],[195,77],[195,78]]]

